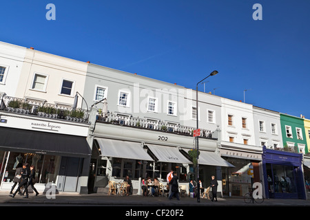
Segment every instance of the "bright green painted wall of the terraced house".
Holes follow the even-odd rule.
[[[304,144],[305,153],[309,153],[307,147],[307,137],[304,131],[304,119],[280,113],[280,122],[283,146],[286,146],[287,142],[293,142],[295,149],[297,149],[298,144]],[[285,126],[291,126],[292,137],[287,137],[287,131],[285,129]],[[301,129],[302,140],[298,139],[296,128]]]

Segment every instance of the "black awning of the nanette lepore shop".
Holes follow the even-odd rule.
[[[0,150],[68,157],[92,155],[86,137],[0,126]]]

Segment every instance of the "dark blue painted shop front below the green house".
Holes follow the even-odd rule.
[[[265,195],[275,199],[306,199],[302,154],[263,147]]]

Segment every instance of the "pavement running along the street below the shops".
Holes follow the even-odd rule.
[[[32,206],[310,206],[309,199],[265,199],[258,204],[245,203],[242,198],[218,198],[217,202],[200,198],[198,203],[196,198],[190,197],[181,197],[180,201],[177,201],[176,198],[169,200],[167,197],[107,196],[105,193],[80,195],[77,192],[59,192],[55,199],[50,199],[45,194],[36,197],[31,193],[29,198],[25,199],[20,195],[12,198],[8,192],[0,192],[0,206],[25,203]]]

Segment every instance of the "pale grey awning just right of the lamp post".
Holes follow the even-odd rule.
[[[214,152],[208,151],[199,151],[199,164],[209,165],[209,166],[226,166],[226,167],[235,167],[232,164],[229,164],[225,159],[220,157]]]

